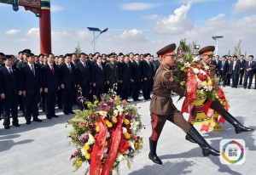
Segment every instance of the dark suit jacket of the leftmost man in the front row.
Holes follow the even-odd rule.
[[[20,70],[13,69],[13,75],[9,73],[6,66],[0,68],[0,93],[5,93],[5,97],[11,96],[12,94],[18,95],[21,91],[20,85]]]

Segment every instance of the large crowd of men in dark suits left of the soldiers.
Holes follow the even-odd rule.
[[[20,127],[18,109],[31,121],[41,122],[38,107],[47,119],[55,115],[55,105],[65,115],[73,114],[79,97],[93,101],[114,90],[121,99],[151,99],[154,72],[160,62],[151,54],[54,54],[34,55],[29,49],[18,57],[0,53],[0,114],[3,126]],[[81,94],[80,94],[81,93]],[[80,109],[86,108],[79,105]]]

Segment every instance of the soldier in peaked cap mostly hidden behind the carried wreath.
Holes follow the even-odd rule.
[[[215,49],[214,46],[207,46],[207,47],[201,48],[199,50],[199,54],[201,54],[201,64],[202,65],[209,65],[209,62],[213,55],[214,49]],[[213,77],[216,72],[215,67],[212,65],[209,65],[209,67],[210,67],[210,71],[211,71],[211,76]],[[207,103],[207,100],[205,103]],[[224,109],[223,105],[220,104],[218,99],[212,101],[210,108],[212,108],[212,110],[217,111],[218,114],[220,114],[220,116],[223,116],[226,121],[230,122],[230,124],[235,127],[236,133],[253,131],[252,128],[244,127],[243,125],[241,125],[241,123],[239,121],[237,121],[234,116],[232,116],[227,110]],[[195,141],[193,139],[189,138],[188,135],[186,136],[186,139],[189,140],[190,142],[195,143]]]

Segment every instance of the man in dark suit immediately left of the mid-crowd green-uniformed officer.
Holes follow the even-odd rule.
[[[104,68],[102,65],[102,56],[96,57],[96,64],[91,69],[92,94],[98,100],[101,100],[101,94],[105,87]]]

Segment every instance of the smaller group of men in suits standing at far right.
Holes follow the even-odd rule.
[[[216,74],[219,76],[219,82],[222,82],[224,87],[237,88],[239,84],[243,88],[251,88],[253,76],[256,75],[256,62],[253,61],[253,55],[249,55],[247,60],[242,54],[239,59],[236,55],[224,55],[221,59],[216,55],[211,64],[216,65]],[[256,76],[254,77],[256,83]],[[230,80],[232,80],[232,84]],[[256,89],[255,83],[254,89]]]

